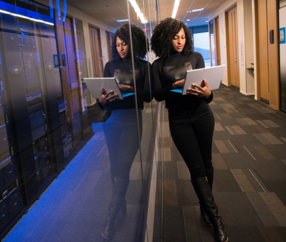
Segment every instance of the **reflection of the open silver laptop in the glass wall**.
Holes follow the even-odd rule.
[[[135,94],[121,92],[115,77],[84,78],[84,81],[87,83],[93,98],[98,99],[100,97],[101,88],[103,88],[106,93],[111,90],[114,91],[115,94],[118,94],[119,99]]]

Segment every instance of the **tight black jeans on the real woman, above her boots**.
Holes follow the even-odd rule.
[[[169,125],[173,141],[186,162],[191,179],[205,177],[212,169],[211,145],[214,117],[208,104],[198,108],[169,109]]]

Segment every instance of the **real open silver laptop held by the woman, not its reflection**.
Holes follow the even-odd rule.
[[[218,89],[221,83],[224,69],[225,65],[219,65],[208,68],[188,70],[183,88],[171,91],[179,92],[182,93],[182,95],[186,95],[188,88],[191,88],[191,84],[196,84],[200,86],[203,79],[206,80],[210,90]]]

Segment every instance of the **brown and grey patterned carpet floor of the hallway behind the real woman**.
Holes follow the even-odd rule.
[[[213,194],[229,241],[286,242],[286,114],[233,87],[213,93]],[[213,242],[169,131],[164,144],[164,242]]]

